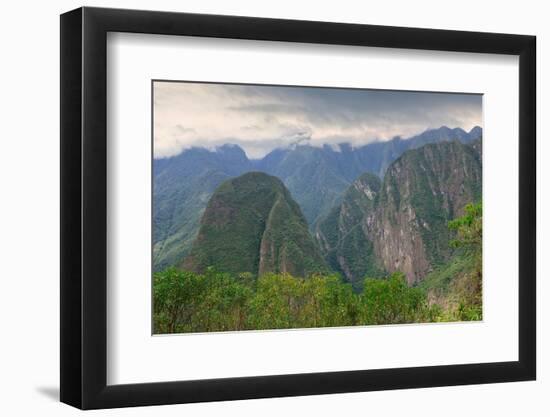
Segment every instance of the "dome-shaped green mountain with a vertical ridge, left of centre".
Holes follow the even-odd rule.
[[[208,202],[184,268],[197,272],[326,271],[300,207],[278,178],[250,172],[225,181]]]

